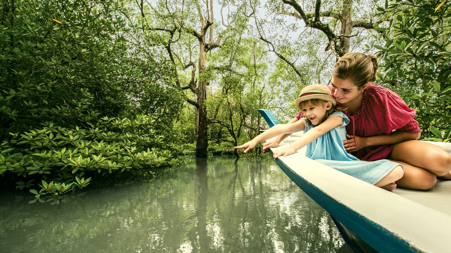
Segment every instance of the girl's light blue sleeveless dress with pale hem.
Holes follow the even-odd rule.
[[[343,141],[346,140],[345,126],[349,123],[349,118],[342,112],[332,113],[329,117],[331,116],[343,117],[343,124],[308,144],[305,156],[372,185],[400,165],[387,159],[373,162],[361,161],[346,152]],[[307,120],[305,121],[304,132],[316,127],[308,126]]]

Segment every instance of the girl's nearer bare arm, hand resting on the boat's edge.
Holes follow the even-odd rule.
[[[312,129],[304,133],[303,136],[299,137],[299,139],[293,142],[291,145],[274,151],[273,153],[274,159],[278,158],[279,156],[287,156],[289,154],[294,154],[296,150],[303,148],[313,140],[316,140],[323,134],[327,133],[328,131],[331,131],[333,128],[340,127],[341,124],[343,124],[343,117],[340,116],[328,117],[320,125],[318,125],[317,127],[313,127]]]

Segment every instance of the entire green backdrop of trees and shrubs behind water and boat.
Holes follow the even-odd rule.
[[[257,108],[288,121],[349,51],[379,57],[377,84],[417,109],[422,138],[450,141],[449,5],[2,1],[0,179],[55,198],[180,155],[239,156],[267,127]]]

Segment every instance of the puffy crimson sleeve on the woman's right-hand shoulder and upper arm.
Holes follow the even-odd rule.
[[[377,85],[370,87],[370,89],[374,88],[376,92],[369,92],[369,97],[373,99],[369,99],[370,101],[367,101],[367,105],[368,107],[375,107],[373,109],[376,117],[382,119],[382,121],[385,119],[385,124],[380,122],[381,124],[379,125],[382,131],[386,134],[391,133],[393,130],[405,131],[411,134],[421,131],[418,122],[414,119],[417,113],[415,109],[409,108],[404,100],[387,88]],[[377,115],[379,113],[380,115]]]

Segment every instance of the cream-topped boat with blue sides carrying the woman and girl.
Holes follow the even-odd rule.
[[[278,148],[301,135],[289,136]],[[451,153],[451,143],[431,143]],[[276,163],[329,212],[355,252],[451,252],[451,181],[438,180],[432,190],[389,192],[305,157],[305,148],[277,158]]]

